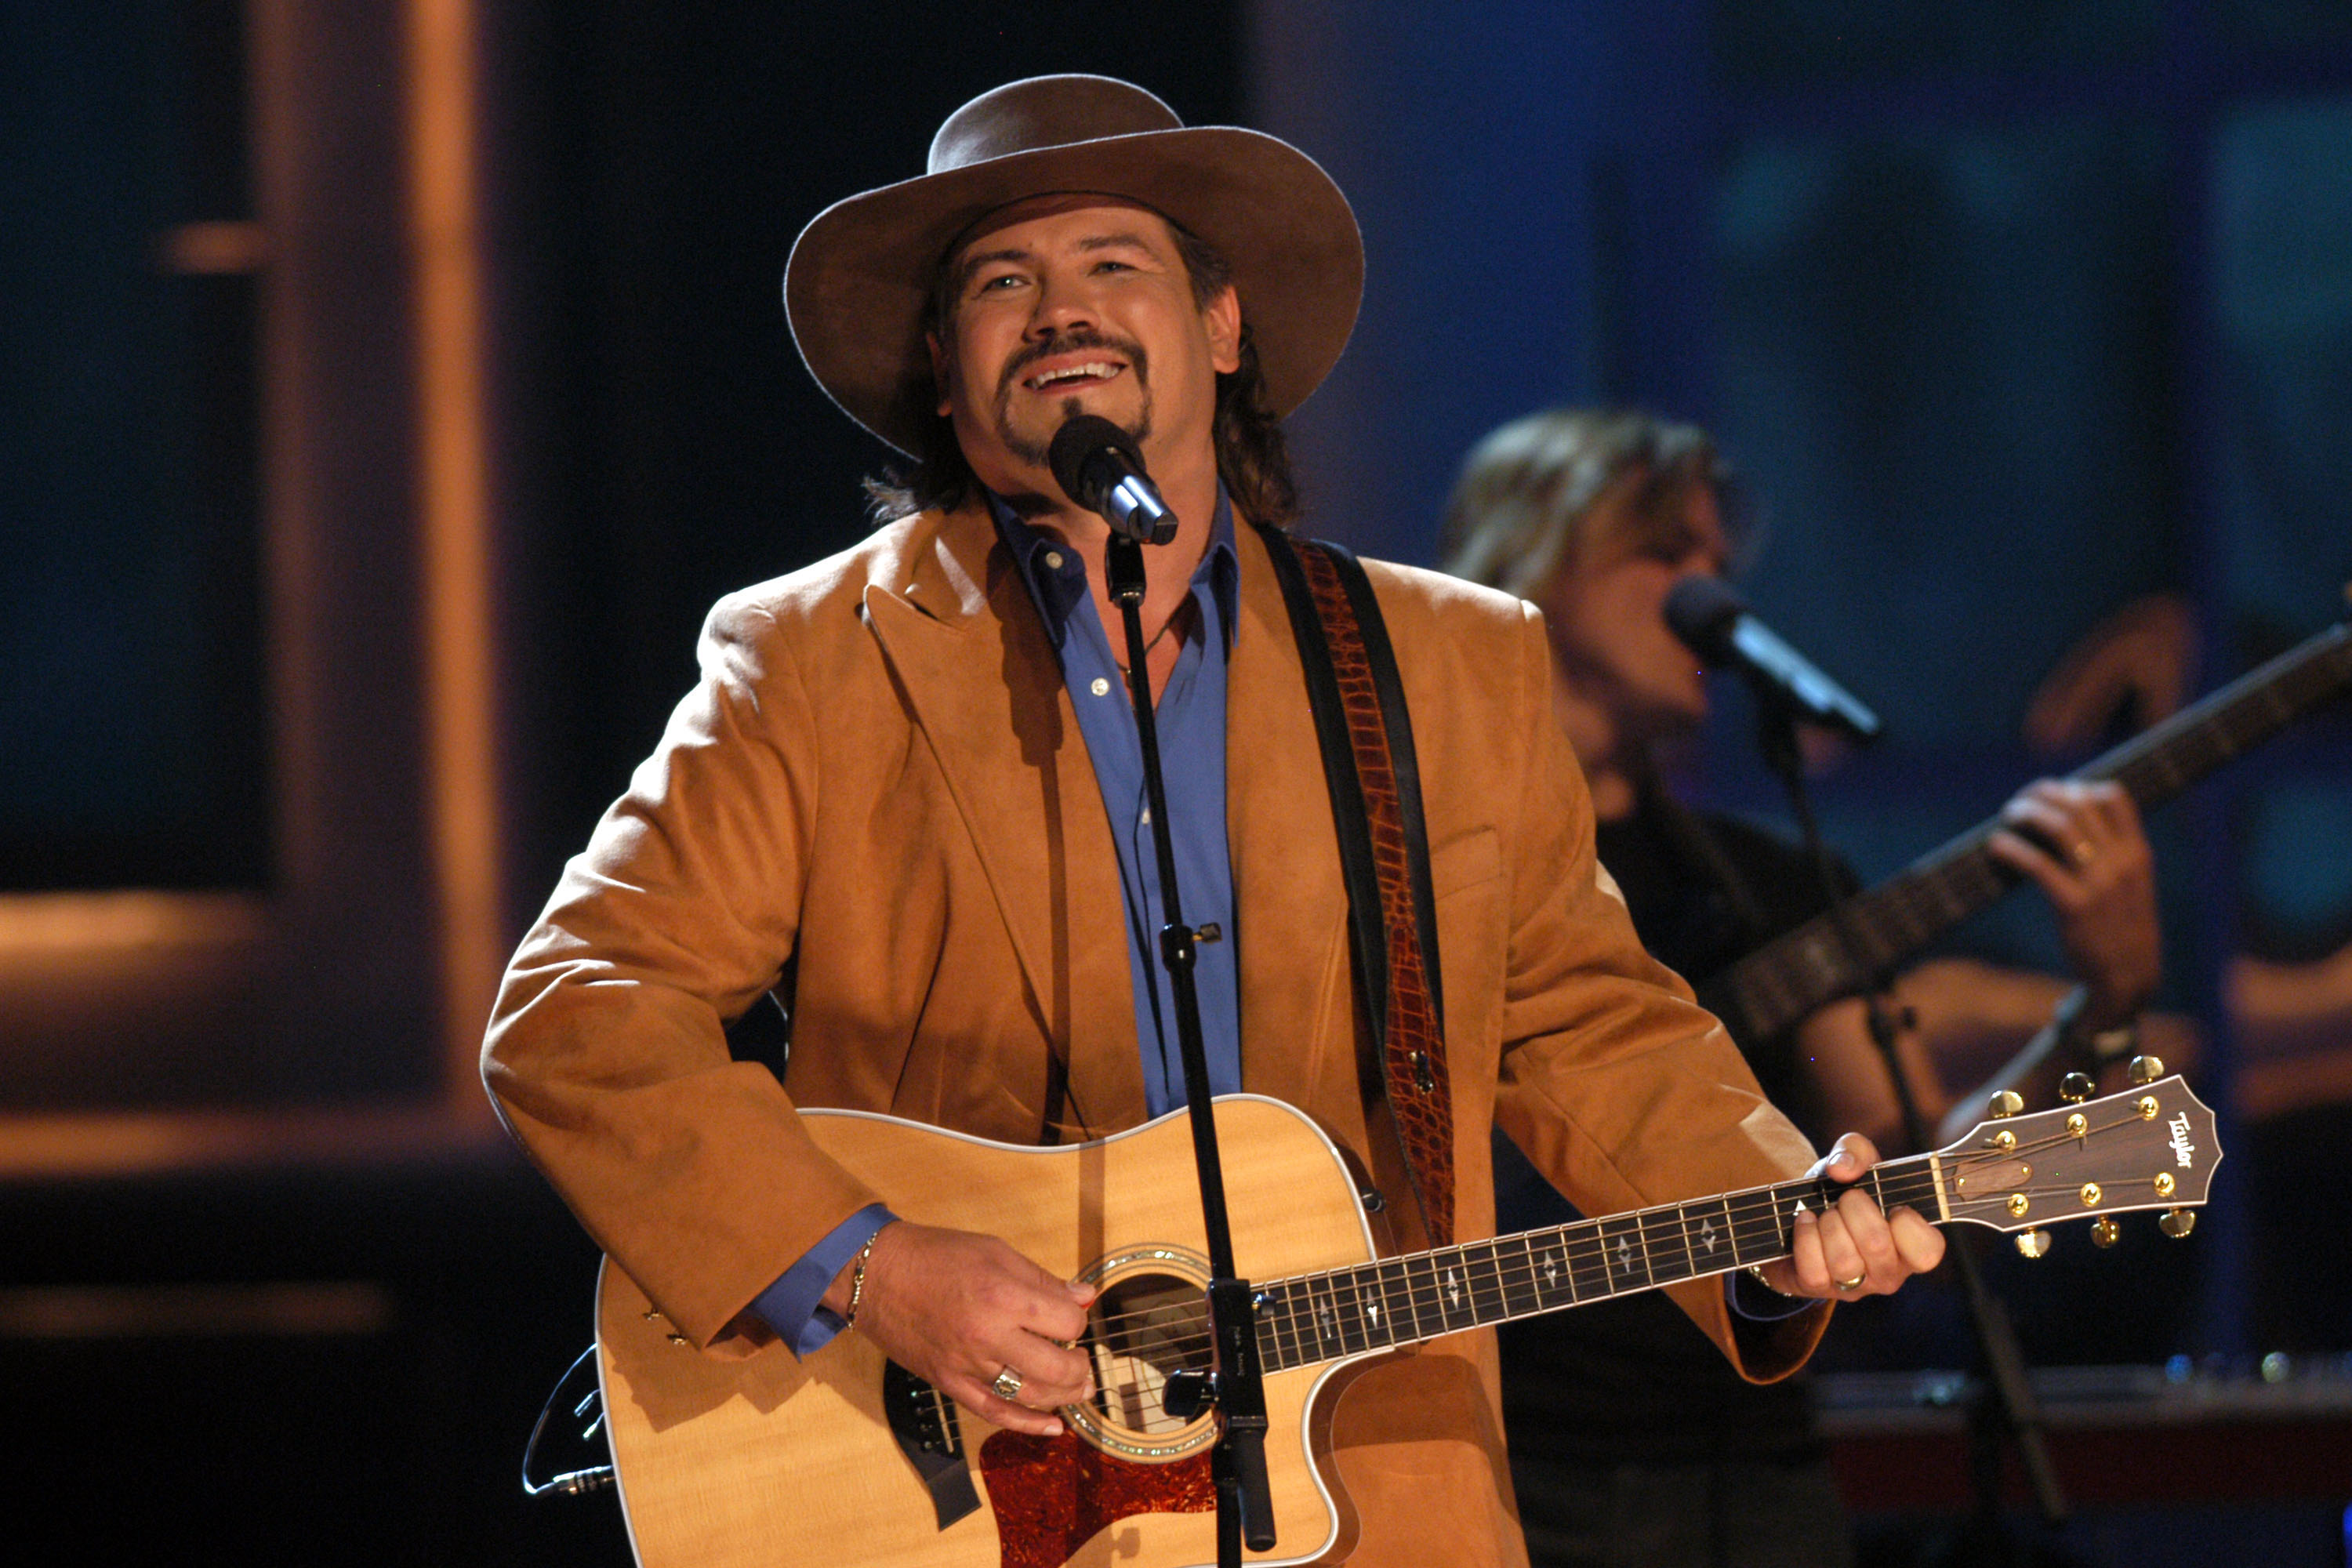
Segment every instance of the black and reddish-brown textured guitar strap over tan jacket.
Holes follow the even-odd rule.
[[[1397,654],[1371,578],[1345,548],[1261,527],[1291,611],[1322,743],[1369,1020],[1362,1077],[1381,1086],[1428,1246],[1454,1241],[1454,1091],[1421,766]]]

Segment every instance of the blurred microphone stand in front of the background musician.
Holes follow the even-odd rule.
[[[1830,903],[1830,926],[1856,964],[1870,969],[1870,985],[1863,990],[1863,1013],[1870,1027],[1870,1044],[1886,1060],[1886,1077],[1903,1112],[1903,1135],[1910,1138],[1915,1152],[1933,1150],[1936,1143],[1926,1119],[1919,1114],[1919,1098],[1912,1093],[1910,1074],[1903,1072],[1903,1060],[1896,1056],[1896,1016],[1889,1006],[1893,973],[1870,964],[1870,947],[1860,940],[1860,931],[1853,929],[1853,910],[1846,903],[1830,846],[1820,837],[1820,823],[1813,818],[1813,799],[1804,783],[1804,757],[1797,750],[1797,710],[1780,693],[1762,684],[1750,684],[1750,689],[1757,701],[1757,748],[1764,752],[1764,766],[1778,773],[1788,788],[1790,809],[1797,813],[1797,827],[1804,835],[1804,849],[1813,860],[1813,875],[1820,877],[1820,893]],[[2067,1502],[2058,1488],[2058,1472],[2051,1465],[2049,1446],[2042,1441],[2042,1406],[2025,1380],[2025,1356],[2018,1352],[2018,1335],[2009,1321],[2009,1309],[1985,1284],[1983,1265],[1966,1237],[1952,1237],[1947,1251],[1959,1274],[1962,1298],[1969,1305],[1976,1349],[1985,1361],[1985,1385],[1969,1418],[1969,1469],[1976,1483],[1978,1523],[1985,1530],[1985,1554],[1992,1561],[1994,1542],[2002,1540],[2002,1436],[2016,1443],[2025,1481],[2034,1493],[2034,1505],[2046,1526],[2058,1528],[2065,1523]],[[2013,1554],[2002,1552],[2002,1556]]]

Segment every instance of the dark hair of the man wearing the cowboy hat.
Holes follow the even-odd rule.
[[[1232,282],[1232,266],[1207,240],[1167,219],[1192,282],[1192,303],[1207,308]],[[931,299],[922,313],[924,331],[946,336],[955,320],[955,252],[941,256],[931,277]],[[1298,482],[1291,477],[1291,451],[1282,440],[1282,421],[1265,407],[1265,371],[1258,369],[1258,346],[1242,322],[1240,367],[1216,376],[1216,477],[1225,482],[1235,510],[1254,522],[1289,524],[1298,517]],[[946,414],[924,421],[922,444],[913,468],[887,468],[866,480],[866,501],[875,522],[896,522],[915,512],[953,510],[978,496],[978,480],[964,449],[955,444],[955,425]]]

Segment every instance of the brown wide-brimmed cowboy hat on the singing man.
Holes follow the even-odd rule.
[[[793,341],[849,418],[901,451],[922,447],[938,418],[922,341],[938,263],[997,207],[1056,190],[1143,202],[1232,263],[1277,416],[1305,402],[1345,348],[1364,242],[1312,158],[1261,132],[1188,127],[1108,75],[1033,75],[948,115],[920,179],[835,202],[793,242]]]

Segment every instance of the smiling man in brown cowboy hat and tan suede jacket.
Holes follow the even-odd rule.
[[[1129,430],[1178,520],[1143,625],[1185,917],[1228,933],[1200,961],[1211,1081],[1303,1107],[1406,1187],[1371,1133],[1322,755],[1258,536],[1296,508],[1277,421],[1338,357],[1359,282],[1355,219],[1303,153],[1080,75],[974,99],[924,176],[802,233],[802,357],[915,468],[877,487],[863,545],[717,604],[701,684],[524,938],[485,1053],[532,1159],[694,1345],[807,1356],[851,1324],[1037,1436],[1089,1394],[1061,1342],[1091,1291],[891,1215],[795,1114],[1070,1143],[1183,1100],[1108,529],[1047,463],[1073,414]],[[1496,1124],[1588,1213],[1813,1166],[1635,943],[1536,614],[1369,571],[1421,752],[1454,1232],[1491,1232]],[[781,1081],[722,1032],[762,992],[793,1016]],[[1771,1302],[1891,1291],[1940,1237],[1846,1194],[1795,1248],[1740,1284],[1748,1312],[1675,1286],[1748,1375],[1795,1368],[1825,1316]],[[1329,1446],[1355,1561],[1522,1561],[1489,1335],[1364,1373]]]

